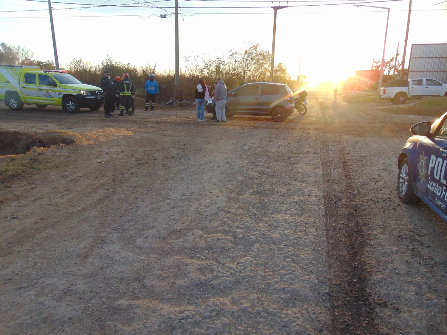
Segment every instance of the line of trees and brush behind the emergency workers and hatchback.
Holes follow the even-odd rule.
[[[35,60],[34,53],[22,46],[9,46],[0,44],[0,64],[8,65],[37,65],[42,69],[55,69],[53,61]],[[214,89],[216,78],[223,79],[228,89],[237,87],[242,79],[251,81],[270,81],[271,54],[262,50],[259,43],[253,43],[245,50],[230,50],[225,56],[203,54],[195,57],[185,57],[184,65],[180,68],[179,85],[175,86],[175,73],[173,70],[157,69],[157,64],[136,66],[124,63],[106,55],[101,64],[93,65],[84,59],[72,59],[71,62],[61,67],[85,84],[99,86],[100,79],[105,70],[110,72],[112,79],[116,75],[122,76],[128,72],[131,80],[137,88],[137,96],[145,97],[144,84],[148,80],[149,73],[156,76],[160,86],[160,100],[167,100],[175,95],[177,99],[192,98],[199,78],[205,80]],[[305,80],[300,75],[301,86]],[[278,63],[274,67],[273,82],[287,84],[290,88],[298,88],[297,80],[292,80],[287,68]]]

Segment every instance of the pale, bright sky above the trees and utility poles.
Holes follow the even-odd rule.
[[[271,52],[272,3],[288,6],[278,10],[274,60],[283,63],[292,78],[298,75],[299,59],[300,73],[311,84],[344,79],[371,68],[373,59],[382,59],[387,10],[353,4],[390,8],[385,59],[396,54],[397,43],[402,56],[409,0],[179,0],[180,65],[183,57],[225,57],[232,48],[245,49],[251,43],[259,42]],[[174,15],[160,18],[174,12],[174,0],[54,0],[51,4],[61,67],[79,58],[96,65],[109,55],[136,66],[157,64],[159,71],[174,69]],[[132,7],[79,9],[97,4]],[[411,44],[447,42],[446,22],[447,1],[412,1],[406,66]],[[54,60],[47,0],[1,0],[0,32],[0,42],[24,46],[34,52],[34,59]]]

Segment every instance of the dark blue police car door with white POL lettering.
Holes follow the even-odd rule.
[[[447,117],[434,136],[422,137],[416,153],[411,164],[413,185],[431,205],[447,214]]]

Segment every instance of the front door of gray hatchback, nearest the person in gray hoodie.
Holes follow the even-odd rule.
[[[233,90],[227,98],[231,113],[258,113],[260,84],[245,84]]]

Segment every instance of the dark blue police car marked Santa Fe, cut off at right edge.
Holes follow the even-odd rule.
[[[405,203],[422,199],[447,222],[447,113],[410,131],[398,159],[397,194]]]

